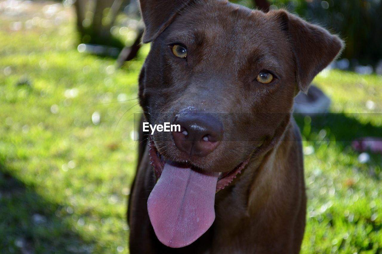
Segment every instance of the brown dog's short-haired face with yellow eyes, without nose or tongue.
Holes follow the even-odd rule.
[[[201,157],[179,149],[172,133],[155,132],[153,140],[161,155],[202,170],[225,172],[248,159],[257,147],[276,143],[289,121],[296,92],[308,86],[298,86],[295,58],[299,56],[288,16],[223,1],[197,2],[176,14],[151,45],[140,80],[141,106],[151,123],[173,123],[187,108],[201,116],[211,113],[222,124],[223,135],[220,144]],[[330,51],[324,59],[327,64],[337,55],[340,41],[311,27],[322,34],[308,39],[317,44],[332,40],[336,47],[325,49]],[[309,49],[309,42],[298,47],[312,51],[303,57],[317,68],[314,58],[322,58],[325,52]],[[299,67],[309,75],[310,66]]]

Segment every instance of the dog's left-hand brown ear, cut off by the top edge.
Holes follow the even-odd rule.
[[[142,41],[154,40],[173,21],[175,16],[193,0],[139,0],[145,25]]]

